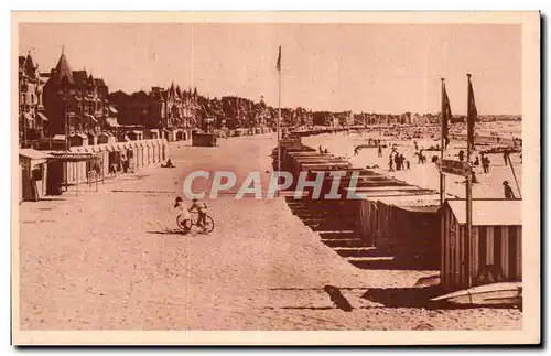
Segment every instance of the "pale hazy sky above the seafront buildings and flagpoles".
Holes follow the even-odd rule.
[[[102,77],[110,91],[196,87],[313,110],[439,112],[441,77],[452,112],[464,115],[467,78],[478,112],[519,115],[521,28],[515,24],[23,23],[20,55],[41,72],[62,48],[73,71]]]

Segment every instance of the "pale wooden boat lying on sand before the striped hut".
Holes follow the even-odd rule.
[[[431,299],[464,305],[518,305],[522,302],[522,282],[500,282],[473,287]]]

